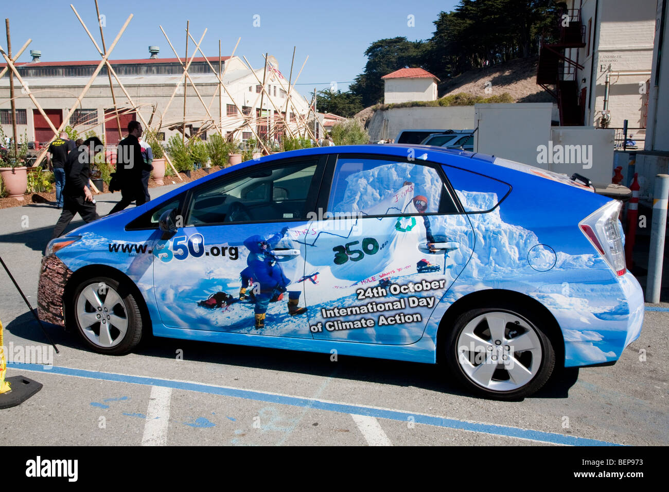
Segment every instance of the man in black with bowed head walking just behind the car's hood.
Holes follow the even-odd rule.
[[[65,162],[67,177],[63,190],[65,195],[63,212],[60,214],[58,222],[56,222],[52,239],[63,234],[76,214],[79,214],[86,224],[100,217],[95,209],[93,195],[88,189],[88,177],[90,175],[90,163],[94,161],[95,155],[102,149],[100,139],[90,137],[84,140],[84,143],[78,149],[74,149],[68,154],[68,159]]]

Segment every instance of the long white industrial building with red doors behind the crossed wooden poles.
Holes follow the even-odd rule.
[[[245,118],[252,120],[254,130],[262,138],[277,138],[282,133],[279,114],[288,118],[289,127],[293,131],[298,126],[298,118],[306,120],[309,111],[308,102],[292,90],[290,101],[288,101],[288,80],[278,70],[278,63],[272,56],[268,57],[270,63],[266,73],[266,94],[262,94],[264,63],[254,69],[254,76],[248,66],[236,56],[222,57],[221,66],[219,66],[217,56],[209,57],[209,63],[202,57],[193,58],[189,67],[189,76],[197,86],[205,106],[208,107],[209,114],[211,114],[209,118],[207,110],[200,102],[190,82],[187,82],[186,85],[184,103],[184,76],[179,60],[177,58],[157,58],[157,47],[151,48],[153,48],[152,58],[110,60],[110,63],[142,116],[147,122],[151,120],[151,127],[159,129],[163,139],[169,139],[174,133],[181,135],[179,129],[183,127],[184,104],[186,134],[194,135],[205,125],[207,131],[200,134],[203,139],[206,139],[207,132],[211,135],[216,131],[214,125],[219,125],[224,135],[233,133],[235,139],[249,139],[253,136],[252,132],[248,126],[242,128]],[[17,63],[17,70],[48,118],[58,128],[94,73],[99,60],[45,62],[39,59],[39,52],[32,52],[32,54],[35,59],[32,62]],[[225,72],[223,84],[234,102],[226,90],[222,90],[222,96],[219,97],[219,80],[209,64],[216,72]],[[4,66],[5,64],[0,64],[0,68]],[[165,112],[175,86],[180,81],[181,86]],[[35,108],[16,78],[14,87],[17,133],[21,137],[24,133],[27,134],[28,141],[39,143],[50,141],[54,136],[50,125]],[[68,123],[80,133],[92,129],[98,135],[104,135],[106,145],[114,145],[124,136],[127,122],[138,119],[115,80],[114,96],[116,97],[116,108],[120,113],[121,136],[118,134],[116,112],[106,67],[102,68],[96,76],[90,90],[78,104]],[[9,99],[9,76],[7,74],[0,79],[0,123],[5,135],[8,136],[12,135]],[[261,99],[262,108],[260,107]],[[212,119],[213,122],[211,122]]]

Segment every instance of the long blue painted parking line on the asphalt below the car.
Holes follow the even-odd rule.
[[[466,420],[457,420],[455,418],[443,418],[443,417],[429,416],[423,414],[412,414],[411,412],[404,412],[401,410],[385,410],[383,408],[373,408],[363,405],[325,402],[315,398],[284,396],[278,394],[257,392],[253,390],[226,388],[225,386],[212,386],[209,384],[188,383],[181,381],[164,380],[161,378],[148,378],[145,376],[126,376],[124,374],[88,371],[84,369],[72,369],[70,367],[58,367],[55,365],[44,366],[38,364],[8,363],[7,367],[11,367],[12,369],[16,369],[19,371],[27,370],[27,371],[43,372],[46,374],[62,374],[64,376],[75,376],[77,378],[87,378],[93,380],[142,384],[145,386],[161,386],[163,388],[195,391],[199,393],[215,394],[220,396],[231,396],[233,398],[244,398],[245,400],[257,400],[260,402],[291,405],[302,408],[314,408],[317,410],[328,410],[330,412],[366,415],[377,418],[388,418],[390,420],[398,420],[399,422],[415,422],[417,424],[427,424],[456,430],[468,430],[471,432],[480,432],[482,434],[492,434],[495,436],[531,439],[539,442],[547,442],[550,444],[565,444],[567,446],[622,445],[622,444],[616,444],[615,442],[607,442],[597,439],[588,439],[578,436],[565,436],[564,434],[543,432],[541,430],[523,429],[518,427],[510,427],[496,424],[483,424],[479,422],[467,422]]]

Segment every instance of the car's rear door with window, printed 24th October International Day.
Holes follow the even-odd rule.
[[[336,160],[326,213],[302,240],[310,329],[315,339],[414,343],[470,259],[470,221],[438,165]]]

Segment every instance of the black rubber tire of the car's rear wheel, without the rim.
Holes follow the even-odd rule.
[[[497,315],[496,313],[500,314]],[[513,388],[510,390],[497,389],[497,388],[503,388],[505,384],[508,386],[513,386],[513,384],[515,384],[513,378],[510,376],[510,372],[506,370],[506,367],[512,367],[512,366],[502,365],[500,361],[491,362],[490,359],[488,359],[487,355],[481,355],[483,353],[486,354],[488,353],[487,351],[488,345],[482,344],[485,347],[485,351],[481,351],[478,353],[468,351],[466,349],[467,347],[462,345],[462,343],[464,343],[463,340],[468,339],[466,337],[466,333],[468,333],[470,329],[474,326],[477,327],[476,329],[480,330],[479,332],[475,331],[474,334],[476,335],[480,333],[480,337],[482,339],[486,339],[487,337],[486,333],[492,333],[490,329],[488,329],[488,331],[486,332],[486,326],[488,326],[487,319],[486,321],[478,321],[481,319],[481,317],[484,317],[485,315],[490,315],[493,318],[499,317],[499,319],[513,319],[514,317],[517,319],[512,324],[508,322],[504,323],[504,332],[508,333],[510,338],[506,339],[506,341],[503,341],[502,344],[500,344],[502,345],[502,347],[512,347],[513,346],[512,341],[514,340],[514,337],[517,338],[520,335],[525,335],[526,330],[531,330],[536,335],[536,337],[533,337],[533,340],[535,342],[538,341],[538,343],[535,343],[534,345],[539,345],[539,347],[541,347],[541,357],[537,357],[536,355],[537,352],[535,349],[533,349],[535,351],[521,350],[517,352],[516,351],[502,352],[507,354],[510,353],[511,356],[514,357],[512,362],[513,363],[517,362],[521,364],[521,366],[519,366],[520,369],[524,367],[524,369],[527,370],[527,372],[529,372],[530,374],[535,372],[535,374],[531,377],[529,381],[524,382],[524,384],[518,386],[517,388]],[[515,328],[516,326],[518,327],[518,329]],[[543,326],[545,326],[545,323],[543,322],[543,317],[541,315],[529,309],[524,309],[519,307],[512,307],[512,309],[509,309],[508,306],[507,307],[489,306],[466,311],[465,313],[460,315],[458,319],[456,319],[456,322],[454,323],[452,329],[450,329],[446,335],[447,340],[446,343],[444,344],[444,347],[446,350],[445,354],[446,362],[448,363],[450,372],[456,378],[456,380],[458,380],[458,382],[462,386],[464,386],[464,388],[466,388],[470,392],[473,392],[480,396],[484,396],[486,398],[492,398],[495,400],[519,400],[522,398],[526,398],[527,396],[531,396],[531,394],[534,394],[535,392],[537,392],[537,390],[539,390],[539,388],[541,388],[542,386],[544,386],[544,384],[546,384],[546,382],[551,377],[551,374],[553,373],[553,368],[555,367],[555,349],[553,349],[553,344],[551,343],[551,339],[549,338],[549,332],[545,327],[543,328]],[[465,328],[467,328],[468,331],[466,333],[463,333],[465,331]],[[520,333],[520,335],[514,335],[514,332],[516,331],[520,332],[521,330],[522,333]],[[461,334],[463,335],[462,339],[460,339]],[[488,342],[488,344],[493,347],[490,353],[498,354],[500,352],[496,352],[496,350],[498,350],[498,347],[500,345],[494,345],[493,338],[494,337],[491,337],[490,342]],[[461,344],[460,350],[458,350],[458,340],[460,340]],[[471,348],[471,345],[468,348]],[[459,359],[461,353],[466,354],[464,357],[464,361]],[[482,363],[482,359],[485,357],[486,363],[491,363],[496,367],[494,369],[494,372],[492,373],[492,378],[490,380],[490,384],[488,387],[482,386],[481,384],[476,382],[476,380],[474,380],[473,376],[470,376],[466,373],[466,369],[472,370],[472,367],[474,367],[474,369],[478,368],[478,365],[475,365],[474,363],[471,362],[472,354],[479,355],[479,356],[474,355],[473,357],[475,361],[479,362],[479,364]],[[518,359],[516,355],[520,357],[520,359]],[[496,356],[499,357],[499,355]],[[491,355],[490,357],[493,356]],[[541,359],[540,361],[537,360],[539,358]],[[528,363],[528,361],[530,362]],[[506,377],[508,378],[506,382],[504,382],[504,373],[506,373]],[[496,385],[499,386],[497,386],[497,388],[491,388]]]

